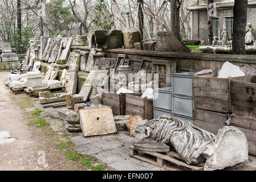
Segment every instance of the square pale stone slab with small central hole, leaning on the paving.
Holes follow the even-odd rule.
[[[84,137],[107,135],[117,132],[110,107],[100,109],[88,107],[88,109],[81,109],[79,110],[79,117]]]

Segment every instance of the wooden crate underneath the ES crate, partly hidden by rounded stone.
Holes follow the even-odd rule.
[[[246,135],[249,154],[256,155],[256,118],[231,114],[231,126],[238,127]]]

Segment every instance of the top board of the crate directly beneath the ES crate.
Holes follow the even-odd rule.
[[[245,129],[256,130],[256,118],[231,114],[231,125],[235,127],[243,127]]]

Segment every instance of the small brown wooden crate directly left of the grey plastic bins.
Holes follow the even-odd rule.
[[[142,94],[126,95],[126,115],[140,115],[143,119],[154,117],[153,99],[141,98]]]

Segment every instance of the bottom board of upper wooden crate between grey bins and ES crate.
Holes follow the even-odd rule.
[[[197,109],[217,111],[221,113],[229,112],[229,101],[228,100],[216,100],[212,98],[194,98],[194,107]]]

